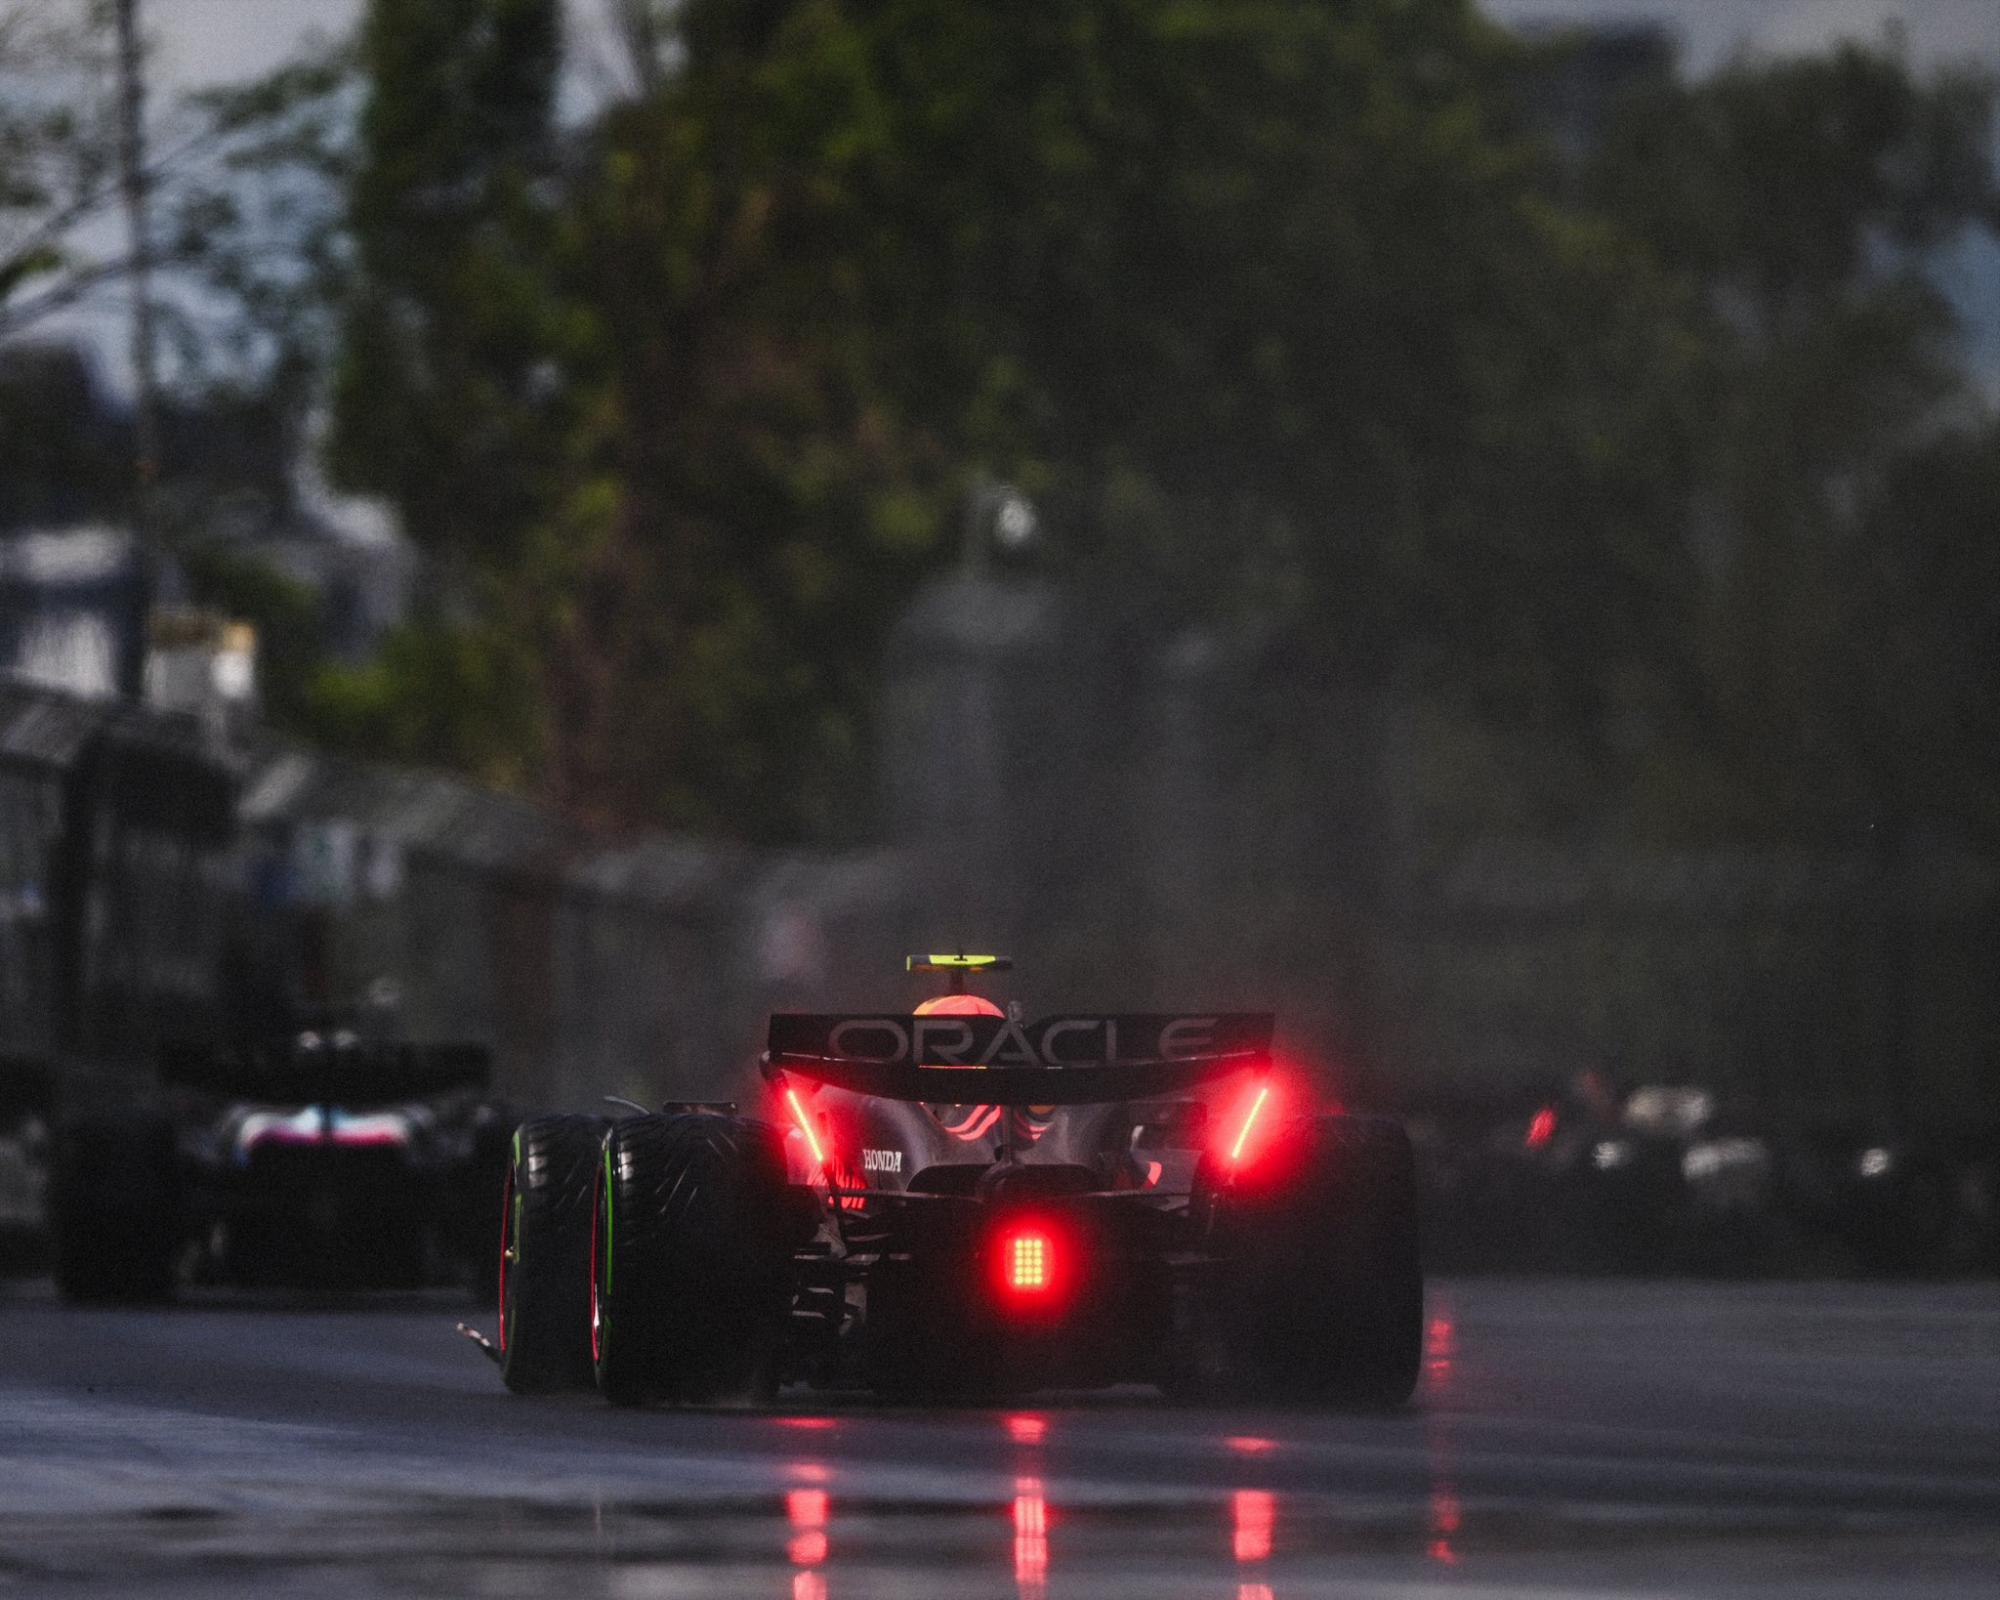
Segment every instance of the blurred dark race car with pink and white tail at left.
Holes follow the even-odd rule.
[[[478,1044],[308,1030],[168,1048],[144,1104],[58,1128],[48,1212],[70,1300],[196,1282],[494,1286],[492,1200],[514,1118]]]

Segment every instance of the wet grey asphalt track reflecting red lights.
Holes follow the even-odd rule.
[[[1396,1416],[612,1412],[462,1314],[0,1286],[0,1594],[2000,1596],[2000,1286],[1436,1284]]]

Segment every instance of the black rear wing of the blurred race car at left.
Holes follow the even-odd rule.
[[[484,1044],[382,1044],[314,1036],[264,1050],[160,1048],[160,1082],[274,1104],[366,1106],[428,1100],[492,1082]]]

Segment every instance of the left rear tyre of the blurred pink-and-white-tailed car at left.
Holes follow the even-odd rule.
[[[174,1294],[180,1164],[164,1116],[114,1112],[56,1136],[50,1224],[66,1300],[154,1302]]]

